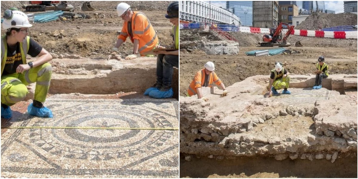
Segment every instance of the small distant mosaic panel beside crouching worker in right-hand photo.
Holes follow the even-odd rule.
[[[275,98],[289,104],[315,103],[316,100],[328,100],[329,98],[329,90],[323,88],[319,90],[289,89],[289,91],[291,95],[278,95]],[[279,93],[281,93],[281,90],[279,90]]]

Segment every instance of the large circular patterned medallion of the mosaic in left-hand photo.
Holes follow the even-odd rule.
[[[141,106],[86,105],[67,107],[62,113],[57,111],[54,118],[40,119],[32,126],[175,128],[168,117],[172,116]],[[91,160],[139,155],[163,146],[175,134],[169,130],[118,129],[32,129],[30,132],[30,141],[51,154]]]

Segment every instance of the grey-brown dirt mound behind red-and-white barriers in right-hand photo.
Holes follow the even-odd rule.
[[[301,24],[297,25],[295,29],[317,30],[339,25],[357,25],[357,14],[326,14],[314,12]]]

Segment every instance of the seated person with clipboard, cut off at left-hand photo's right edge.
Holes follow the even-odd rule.
[[[173,80],[173,67],[179,68],[179,2],[169,4],[165,18],[173,24],[173,41],[170,47],[160,47],[153,50],[157,56],[157,81],[153,87],[148,88],[144,95],[153,98],[173,97],[171,82]]]

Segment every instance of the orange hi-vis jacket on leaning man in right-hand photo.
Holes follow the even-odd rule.
[[[189,85],[188,95],[189,96],[196,95],[198,93],[197,88],[202,87],[204,85],[204,81],[205,81],[205,68],[198,71],[197,74],[195,74],[193,81]],[[211,72],[209,75],[208,87],[211,87],[212,86],[211,84],[213,82],[217,86],[219,86],[221,83],[220,78],[218,78],[215,72]]]

